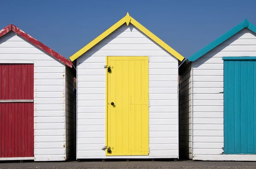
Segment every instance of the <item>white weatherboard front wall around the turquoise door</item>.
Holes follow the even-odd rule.
[[[255,161],[256,155],[222,155],[224,56],[256,56],[256,34],[244,28],[193,62],[193,160]]]

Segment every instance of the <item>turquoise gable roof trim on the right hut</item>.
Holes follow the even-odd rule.
[[[232,37],[234,34],[238,33],[239,31],[241,31],[244,28],[248,28],[251,31],[253,31],[254,33],[256,33],[256,25],[253,25],[252,23],[250,23],[246,18],[243,22],[239,23],[238,25],[236,25],[236,27],[230,29],[230,31],[227,31],[225,34],[223,34],[221,37],[219,37],[218,39],[216,39],[215,41],[209,43],[207,46],[205,46],[204,48],[202,48],[201,50],[197,51],[195,54],[193,54],[192,56],[190,56],[188,58],[188,60],[190,62],[195,61],[196,59],[200,58],[201,56],[203,56],[204,54],[206,54],[207,52],[211,51],[213,48],[215,48],[216,46],[220,45],[222,42],[224,42],[225,40],[229,39],[230,37]]]

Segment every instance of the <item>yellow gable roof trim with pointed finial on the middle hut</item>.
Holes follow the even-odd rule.
[[[163,42],[161,39],[159,39],[157,36],[155,36],[151,31],[148,31],[147,28],[145,28],[143,25],[138,23],[134,18],[132,18],[129,13],[127,12],[126,16],[123,17],[121,20],[119,20],[117,23],[115,23],[113,26],[108,28],[105,32],[99,35],[99,37],[96,37],[88,43],[86,46],[81,48],[79,51],[77,51],[75,54],[70,56],[70,60],[73,62],[76,60],[79,56],[87,52],[90,48],[92,48],[94,45],[99,43],[102,39],[107,37],[109,34],[111,34],[113,31],[115,31],[117,28],[119,28],[121,25],[126,23],[128,26],[129,23],[133,24],[136,28],[138,28],[140,31],[142,31],[145,35],[150,37],[154,42],[156,42],[158,45],[160,45],[162,48],[164,48],[166,51],[168,51],[170,54],[175,56],[178,60],[182,61],[184,57],[180,55],[177,51],[175,51],[173,48],[171,48],[169,45],[167,45],[165,42]]]

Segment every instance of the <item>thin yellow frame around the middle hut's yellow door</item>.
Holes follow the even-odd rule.
[[[105,147],[108,147],[108,67],[110,65],[108,65],[108,57],[115,57],[115,56],[106,56],[106,65],[105,65],[105,73],[106,73],[106,79],[105,79],[105,86],[106,86],[106,96],[105,96]],[[122,57],[122,56],[116,56],[116,57]],[[149,56],[123,56],[123,57],[148,57],[148,62],[149,62]],[[148,74],[149,76],[149,74]],[[148,98],[149,100],[149,98]],[[149,111],[148,111],[149,113]],[[149,120],[149,119],[148,119]],[[149,124],[149,121],[148,121]],[[149,127],[149,126],[148,126]],[[148,130],[149,132],[149,130]],[[149,133],[148,133],[149,136]],[[149,144],[149,138],[148,138],[148,144]],[[148,152],[149,153],[149,152]],[[107,155],[107,149],[105,152],[105,155]],[[143,155],[144,156],[144,155]]]

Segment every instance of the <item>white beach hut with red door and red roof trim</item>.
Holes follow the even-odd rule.
[[[0,160],[73,153],[72,62],[15,25],[0,31]]]

